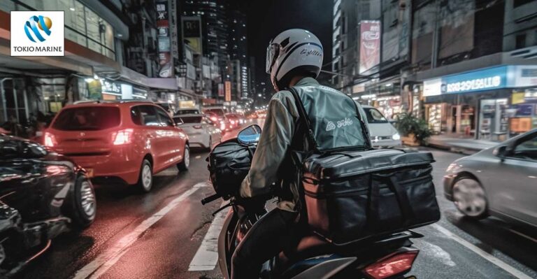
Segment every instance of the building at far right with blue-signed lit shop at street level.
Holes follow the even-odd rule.
[[[432,1],[413,13],[406,83],[435,133],[503,141],[537,127],[536,1]]]

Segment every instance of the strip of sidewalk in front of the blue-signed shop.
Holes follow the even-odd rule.
[[[457,136],[456,134],[431,136],[427,143],[433,148],[460,152],[466,155],[492,148],[498,144],[499,142],[496,141],[476,140],[467,136]]]

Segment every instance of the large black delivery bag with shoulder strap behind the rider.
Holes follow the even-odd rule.
[[[347,245],[440,219],[430,152],[371,145],[320,151],[301,99],[291,92],[313,146],[292,152],[301,214],[313,232],[335,245]]]

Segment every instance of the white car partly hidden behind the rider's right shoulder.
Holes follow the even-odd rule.
[[[369,127],[369,136],[373,147],[400,146],[401,136],[378,109],[372,106],[361,105],[361,114],[364,115]]]

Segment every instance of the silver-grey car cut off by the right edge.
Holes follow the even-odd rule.
[[[444,176],[444,195],[464,215],[494,215],[537,227],[537,129],[457,159]]]

